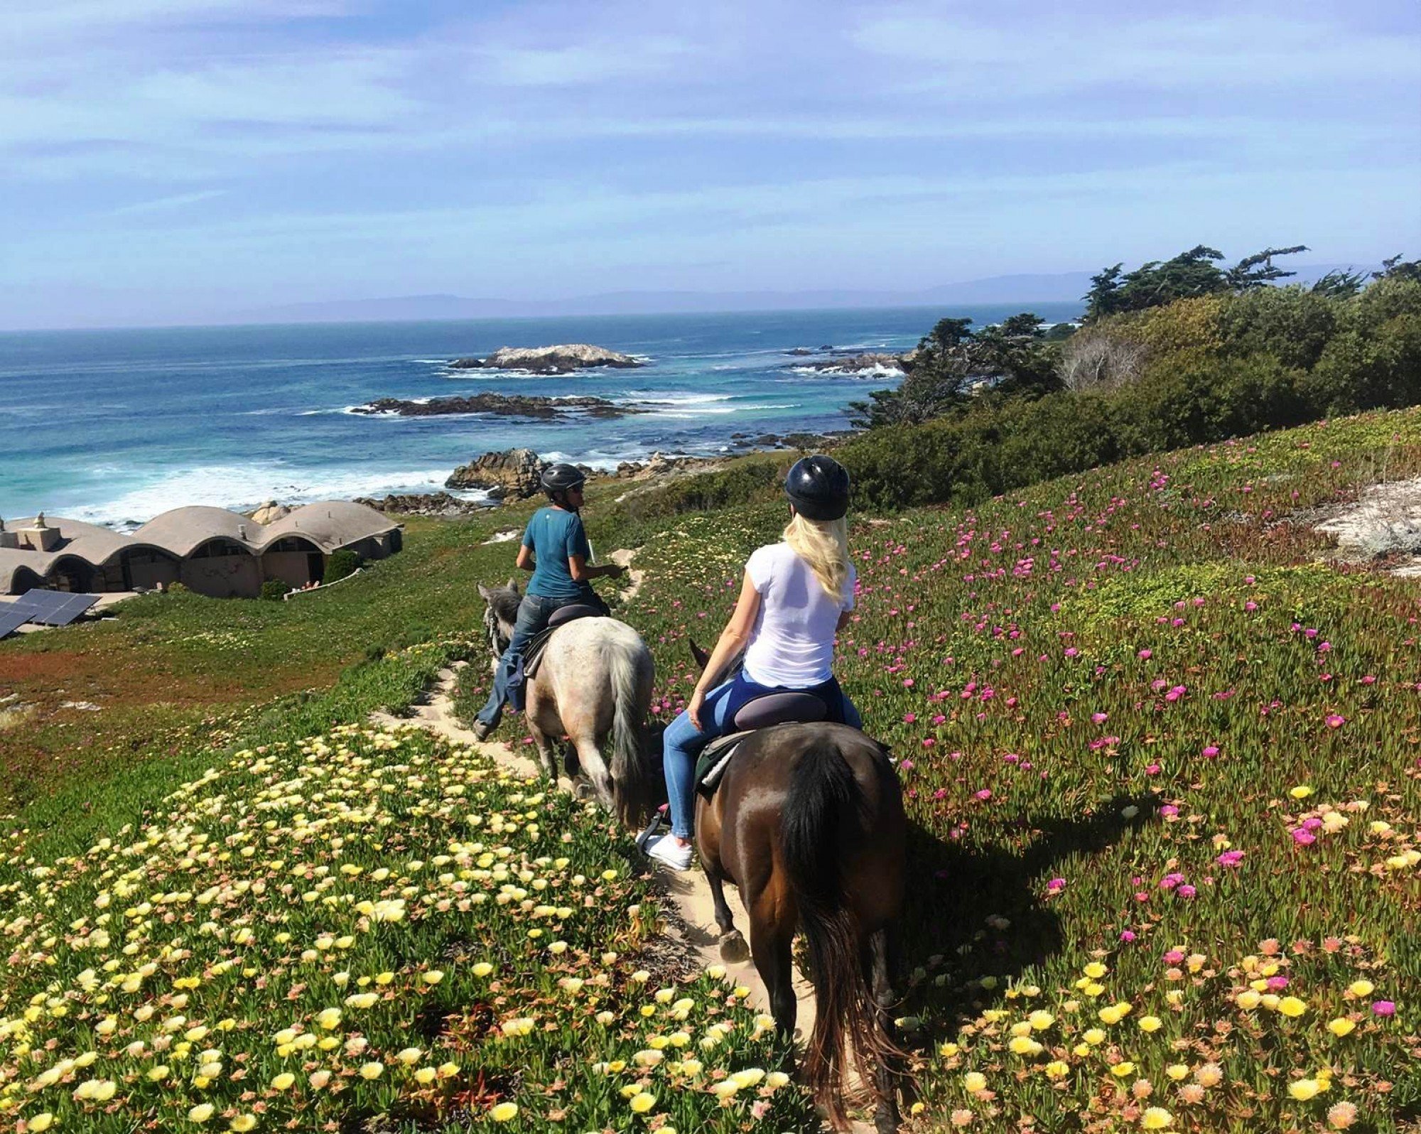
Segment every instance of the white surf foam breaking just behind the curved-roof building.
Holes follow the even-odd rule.
[[[276,463],[203,465],[159,473],[111,500],[65,507],[63,514],[88,523],[121,523],[149,520],[185,504],[213,504],[240,512],[266,500],[297,504],[384,496],[389,492],[438,492],[443,489],[448,475],[448,468],[341,470],[293,469]],[[485,493],[460,495],[466,499],[485,497]]]

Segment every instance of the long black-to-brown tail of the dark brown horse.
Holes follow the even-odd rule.
[[[814,1030],[804,1077],[836,1127],[845,1124],[843,1087],[853,1059],[864,1083],[870,1063],[901,1053],[882,1027],[864,965],[858,918],[844,892],[836,847],[865,831],[864,792],[838,746],[810,746],[790,777],[780,826],[780,854],[809,944],[814,983]],[[857,828],[857,830],[855,830]]]

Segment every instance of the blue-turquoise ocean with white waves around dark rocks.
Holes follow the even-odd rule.
[[[1049,323],[1074,304],[1032,304]],[[942,315],[976,325],[1022,304],[867,311],[0,334],[0,517],[131,524],[180,504],[249,509],[433,492],[456,465],[527,446],[615,468],[661,450],[733,452],[732,433],[828,432],[897,377],[804,369],[796,347],[897,351]],[[456,371],[499,347],[593,342],[648,361],[560,377]],[[480,391],[648,404],[614,419],[352,414],[375,398]]]

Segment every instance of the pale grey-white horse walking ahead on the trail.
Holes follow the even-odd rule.
[[[522,594],[512,578],[504,587],[479,584],[479,594],[487,604],[483,625],[497,665]],[[557,783],[554,745],[566,736],[597,799],[627,826],[641,819],[644,807],[635,769],[654,682],[651,651],[635,630],[615,618],[577,618],[553,631],[537,674],[524,686],[529,730],[549,780]],[[603,759],[608,736],[611,767]]]

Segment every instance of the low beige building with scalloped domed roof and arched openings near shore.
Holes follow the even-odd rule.
[[[399,524],[364,504],[303,504],[270,524],[222,507],[175,507],[132,534],[63,517],[0,524],[0,593],[33,587],[126,591],[182,583],[219,597],[260,593],[280,578],[320,581],[331,553],[384,558],[402,546]]]

